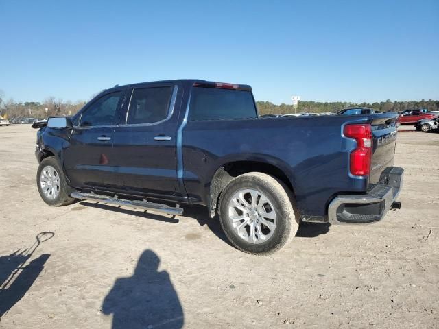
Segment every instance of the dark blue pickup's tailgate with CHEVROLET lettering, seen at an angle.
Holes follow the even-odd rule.
[[[387,114],[372,117],[373,153],[370,165],[369,188],[377,184],[381,172],[393,165],[396,146],[396,118]]]

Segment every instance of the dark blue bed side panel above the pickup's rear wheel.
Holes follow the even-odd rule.
[[[342,141],[346,119],[189,121],[182,143],[187,193],[205,203],[219,167],[238,160],[268,162],[289,178],[301,215],[324,216],[331,195],[367,188],[367,180],[348,175],[348,153],[353,145]]]

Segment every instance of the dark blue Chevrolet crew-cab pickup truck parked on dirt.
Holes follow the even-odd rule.
[[[38,191],[182,215],[202,204],[233,245],[269,254],[302,222],[372,223],[391,208],[397,114],[259,119],[248,85],[115,86],[35,123]]]

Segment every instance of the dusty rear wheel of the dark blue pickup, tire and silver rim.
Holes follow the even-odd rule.
[[[299,226],[289,188],[257,172],[239,175],[224,188],[219,196],[219,221],[237,249],[261,256],[287,245]]]

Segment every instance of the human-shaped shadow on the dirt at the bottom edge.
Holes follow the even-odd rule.
[[[166,271],[158,271],[160,258],[145,250],[134,274],[117,278],[102,304],[102,313],[113,314],[113,329],[182,328],[184,315]]]

